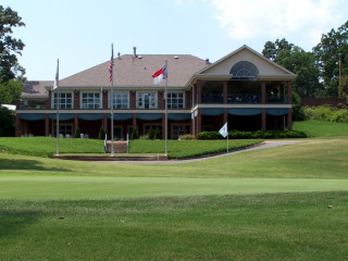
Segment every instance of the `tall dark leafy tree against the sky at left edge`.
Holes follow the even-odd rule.
[[[25,70],[17,62],[17,54],[24,48],[21,39],[12,37],[13,27],[25,26],[22,17],[11,8],[0,5],[0,79],[8,83],[10,79],[21,78]]]

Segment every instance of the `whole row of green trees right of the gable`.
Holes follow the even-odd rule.
[[[266,41],[262,54],[297,74],[293,86],[301,98],[348,97],[348,21],[323,34],[310,52],[283,38]]]

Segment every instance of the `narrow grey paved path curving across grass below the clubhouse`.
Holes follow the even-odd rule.
[[[300,141],[300,140],[263,141],[262,144],[260,144],[258,146],[254,146],[254,147],[251,147],[248,149],[244,149],[244,150],[233,151],[233,152],[229,152],[228,154],[237,154],[237,153],[243,153],[246,151],[269,149],[269,148],[274,148],[274,147],[279,147],[279,146],[285,146],[285,145],[294,145],[294,144],[299,144],[299,142],[303,142],[303,141]],[[214,159],[214,158],[225,157],[225,156],[226,156],[226,153],[211,156],[211,157],[202,157],[202,158],[197,158],[197,159],[167,160],[167,161],[99,161],[99,162],[122,163],[122,164],[179,164],[179,163],[188,163],[188,162],[201,161],[201,160],[207,160],[207,159]]]

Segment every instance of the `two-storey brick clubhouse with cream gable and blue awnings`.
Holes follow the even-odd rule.
[[[16,104],[15,135],[55,136],[55,104],[60,104],[60,134],[73,136],[77,127],[90,138],[103,127],[111,134],[111,98],[115,138],[133,128],[165,132],[165,80],[153,84],[152,73],[167,61],[169,138],[228,129],[291,129],[291,82],[296,75],[248,46],[214,63],[190,54],[117,55],[113,69],[113,97],[109,61],[59,83],[29,80]],[[164,135],[163,135],[164,137]]]

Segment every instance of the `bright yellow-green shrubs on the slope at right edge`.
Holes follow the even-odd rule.
[[[348,109],[338,109],[331,105],[306,107],[307,120],[348,123]]]

